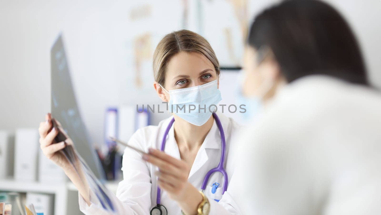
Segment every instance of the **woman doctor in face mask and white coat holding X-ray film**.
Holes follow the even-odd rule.
[[[154,89],[174,114],[158,126],[139,129],[128,141],[147,153],[141,156],[126,148],[123,180],[112,199],[117,211],[125,215],[239,213],[225,192],[234,168],[231,140],[239,126],[221,113],[212,114],[221,100],[213,49],[202,36],[180,30],[159,42],[153,60]],[[179,111],[183,105],[186,110]],[[52,144],[57,131],[48,132],[51,126],[47,114],[39,129],[43,153],[78,188],[83,213],[108,214],[58,153],[66,144]]]

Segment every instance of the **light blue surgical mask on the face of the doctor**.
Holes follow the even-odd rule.
[[[160,87],[170,96],[168,111],[197,126],[208,121],[222,99],[221,92],[217,88],[217,80],[169,92],[162,85]]]

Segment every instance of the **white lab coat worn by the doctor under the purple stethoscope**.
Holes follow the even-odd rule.
[[[224,116],[217,112],[221,124],[224,129],[226,139],[226,156],[225,156],[225,170],[230,180],[234,169],[234,148],[235,135],[238,133],[239,125],[231,118]],[[163,134],[168,126],[172,117],[161,121],[158,126],[147,126],[136,131],[131,137],[128,144],[137,147],[143,151],[148,151],[150,147],[160,149]],[[165,152],[174,158],[180,159],[179,148],[174,139],[174,129],[171,127],[165,145]],[[198,189],[201,188],[203,179],[207,172],[215,168],[221,157],[221,136],[216,125],[213,123],[209,133],[207,134],[199,152],[197,152],[193,166],[191,168],[188,181]],[[116,207],[120,214],[123,215],[146,215],[150,213],[152,207],[156,206],[157,194],[157,179],[154,172],[157,167],[142,160],[134,150],[129,148],[125,149],[123,155],[123,180],[119,183],[117,195],[113,196],[114,202],[117,202]],[[205,189],[205,195],[208,197],[211,215],[220,215],[221,213],[239,214],[237,204],[231,198],[228,192],[222,195],[223,176],[221,174],[212,174],[208,186]],[[215,194],[211,193],[211,186],[213,183],[218,182],[221,185],[217,188]],[[228,187],[231,185],[229,182]],[[221,199],[218,202],[214,199]],[[101,205],[94,198],[94,194],[90,195],[91,205],[88,206],[82,196],[79,194],[80,210],[88,215],[102,215],[109,214],[104,212]],[[166,207],[169,215],[181,215],[181,209],[177,203],[171,200],[168,194],[162,190],[161,204]]]

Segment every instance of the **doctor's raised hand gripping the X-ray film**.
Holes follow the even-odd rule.
[[[69,161],[66,159],[65,155],[60,152],[61,149],[65,148],[67,145],[66,141],[56,143],[54,138],[58,134],[57,128],[52,128],[53,123],[51,122],[51,115],[45,115],[45,122],[40,123],[38,132],[40,133],[40,148],[44,155],[53,161],[56,165],[62,169],[67,169],[70,167]]]

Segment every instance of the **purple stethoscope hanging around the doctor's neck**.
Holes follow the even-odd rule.
[[[221,158],[219,160],[218,166],[216,168],[209,170],[209,172],[205,175],[204,181],[201,185],[201,191],[204,192],[205,188],[207,187],[207,183],[208,183],[208,180],[209,180],[209,177],[211,174],[213,174],[214,172],[221,172],[221,174],[224,176],[224,184],[222,187],[222,194],[224,194],[225,191],[227,190],[227,174],[226,174],[226,171],[224,169],[225,149],[226,149],[225,134],[224,134],[224,130],[223,130],[222,125],[221,125],[221,121],[219,120],[217,114],[213,113],[213,117],[216,120],[217,127],[219,130],[219,134],[221,135],[221,146],[222,146],[221,147],[222,148],[221,149]],[[162,144],[160,146],[161,151],[164,151],[166,136],[168,135],[168,132],[173,125],[173,122],[174,122],[174,118],[171,119],[171,122],[168,124],[168,126],[164,132]],[[156,196],[156,204],[157,205],[152,208],[152,210],[150,212],[151,215],[167,215],[168,214],[167,209],[163,205],[160,204],[160,192],[161,192],[160,188],[157,187],[157,196]]]

